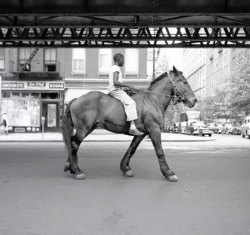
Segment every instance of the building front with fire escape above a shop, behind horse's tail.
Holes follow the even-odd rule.
[[[4,50],[1,109],[13,132],[58,131],[63,115],[64,81],[57,49]]]

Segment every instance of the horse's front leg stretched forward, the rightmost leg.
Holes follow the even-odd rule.
[[[155,149],[155,153],[158,157],[158,161],[160,164],[160,169],[162,174],[171,182],[176,182],[178,181],[177,176],[175,175],[175,173],[170,170],[166,159],[165,159],[165,155],[164,155],[164,151],[162,149],[162,144],[161,144],[161,132],[160,132],[160,128],[155,128],[154,131],[152,131],[149,134],[151,141],[154,145],[154,149]]]

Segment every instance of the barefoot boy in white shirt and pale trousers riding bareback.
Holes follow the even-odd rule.
[[[114,65],[111,67],[109,73],[109,86],[108,93],[114,98],[120,100],[125,108],[125,113],[127,115],[127,121],[130,122],[129,134],[131,135],[143,135],[136,126],[134,120],[138,118],[136,111],[136,103],[130,98],[122,87],[127,87],[134,89],[131,85],[125,85],[122,83],[122,72],[121,67],[124,65],[124,56],[120,53],[114,55]]]

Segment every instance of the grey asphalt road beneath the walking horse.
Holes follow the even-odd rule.
[[[127,147],[82,144],[87,179],[75,180],[62,143],[0,143],[0,234],[250,234],[250,140],[164,143],[177,183],[148,142],[131,161],[135,177],[123,177]]]

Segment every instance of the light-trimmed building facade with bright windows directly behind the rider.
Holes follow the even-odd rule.
[[[65,53],[65,103],[93,90],[107,93],[109,70],[116,53],[125,57],[123,81],[137,88],[148,85],[147,49],[71,49]]]

